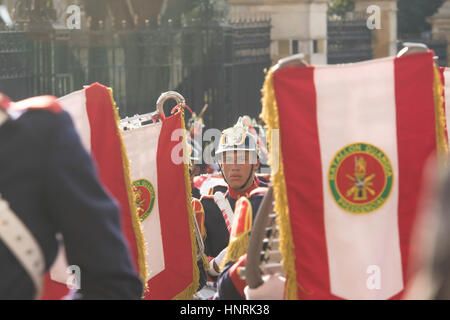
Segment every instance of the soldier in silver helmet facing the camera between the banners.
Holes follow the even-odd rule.
[[[216,192],[201,199],[205,211],[205,253],[210,257],[209,275],[217,277],[230,239],[233,212],[239,198],[250,199],[256,214],[266,191],[264,182],[255,175],[259,165],[256,137],[248,132],[242,121],[223,131],[216,150],[219,167],[228,185],[225,195]]]

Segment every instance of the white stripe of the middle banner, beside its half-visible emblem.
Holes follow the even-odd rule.
[[[158,202],[157,150],[162,123],[124,131],[122,136],[130,160],[130,177],[134,182],[146,179],[153,185],[155,203],[149,216],[142,222],[147,242],[147,268],[149,279],[164,270],[164,250]]]

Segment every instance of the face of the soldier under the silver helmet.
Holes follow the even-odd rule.
[[[252,185],[253,175],[259,168],[259,159],[248,151],[229,151],[223,154],[221,167],[230,188],[239,189],[250,175],[252,177],[247,184]]]

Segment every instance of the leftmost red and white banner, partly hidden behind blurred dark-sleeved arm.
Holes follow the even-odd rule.
[[[144,237],[112,90],[95,83],[59,98],[58,102],[71,115],[84,147],[96,164],[100,181],[119,205],[123,234],[136,272],[144,280],[147,277]],[[69,292],[66,267],[65,255],[60,251],[50,275],[45,278],[42,299],[60,299]]]

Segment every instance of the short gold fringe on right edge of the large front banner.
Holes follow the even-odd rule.
[[[434,113],[436,119],[436,146],[439,163],[447,168],[448,165],[448,141],[445,136],[446,119],[444,110],[444,87],[442,85],[439,69],[434,66]],[[448,128],[447,128],[448,129]]]

